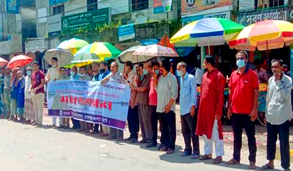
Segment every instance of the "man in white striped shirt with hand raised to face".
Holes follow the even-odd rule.
[[[178,84],[176,77],[170,73],[170,63],[163,60],[160,64],[162,76],[154,78],[158,93],[157,112],[162,116],[162,144],[159,150],[172,154],[175,150],[176,121],[175,121],[175,100],[178,96]]]

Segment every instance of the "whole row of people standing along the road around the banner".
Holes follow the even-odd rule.
[[[248,54],[239,51],[236,54],[238,69],[230,76],[230,98],[228,118],[232,119],[234,132],[234,146],[232,159],[226,164],[240,163],[243,128],[246,131],[249,147],[249,169],[256,168],[256,139],[254,120],[257,118],[259,95],[259,81],[256,72],[262,70],[257,67],[256,72],[247,66]],[[172,61],[171,61],[172,63]],[[215,68],[215,58],[206,56],[204,69],[197,71],[197,77],[187,72],[187,64],[180,62],[171,64],[169,60],[152,61],[135,67],[128,61],[122,73],[118,72],[119,65],[112,62],[110,68],[107,63],[93,62],[87,68],[73,66],[70,76],[66,68],[58,65],[58,59],[52,58],[52,67],[45,75],[38,62],[32,68],[26,69],[27,76],[23,76],[19,68],[11,70],[0,69],[0,98],[1,117],[8,120],[42,126],[45,90],[44,85],[56,80],[101,81],[126,84],[130,87],[130,101],[127,123],[130,136],[124,139],[123,130],[108,128],[100,124],[86,123],[71,119],[73,127],[78,132],[98,133],[129,143],[146,144],[146,148],[158,146],[158,124],[161,131],[158,150],[172,154],[176,142],[175,103],[179,96],[182,135],[185,150],[182,157],[192,159],[211,160],[213,143],[216,157],[213,163],[219,164],[224,156],[224,141],[221,117],[223,116],[224,88],[226,78]],[[256,63],[257,64],[257,63]],[[268,79],[268,98],[266,121],[268,130],[267,159],[268,164],[262,170],[274,168],[276,141],[279,136],[281,151],[281,166],[290,171],[289,127],[292,119],[291,89],[292,79],[282,72],[282,60],[272,60],[273,76]],[[177,77],[177,78],[176,78]],[[200,81],[198,81],[200,79]],[[198,102],[197,85],[201,85]],[[20,119],[18,119],[18,117]],[[70,128],[68,118],[52,117],[52,127]],[[138,141],[141,131],[142,139]],[[199,136],[204,138],[204,155],[200,156]]]

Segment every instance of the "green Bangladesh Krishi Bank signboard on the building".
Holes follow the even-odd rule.
[[[95,29],[98,25],[108,24],[110,21],[111,11],[109,8],[64,16],[61,18],[62,32],[70,33],[84,28]]]

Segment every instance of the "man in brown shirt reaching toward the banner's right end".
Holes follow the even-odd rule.
[[[145,63],[144,67],[139,68],[140,80],[138,81],[138,86],[130,85],[132,90],[137,91],[136,100],[138,103],[138,114],[139,123],[142,132],[143,140],[140,143],[152,143],[153,147],[157,144],[153,142],[153,130],[151,127],[151,108],[149,106],[149,81],[151,78],[151,64]]]

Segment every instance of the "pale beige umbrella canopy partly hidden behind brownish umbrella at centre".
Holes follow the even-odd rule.
[[[153,56],[145,56],[145,55],[133,55],[133,52],[137,50],[138,48],[142,47],[141,45],[138,46],[132,46],[123,51],[119,56],[118,59],[120,63],[126,63],[126,61],[131,61],[133,64],[141,64],[145,63],[151,59],[153,59]]]

